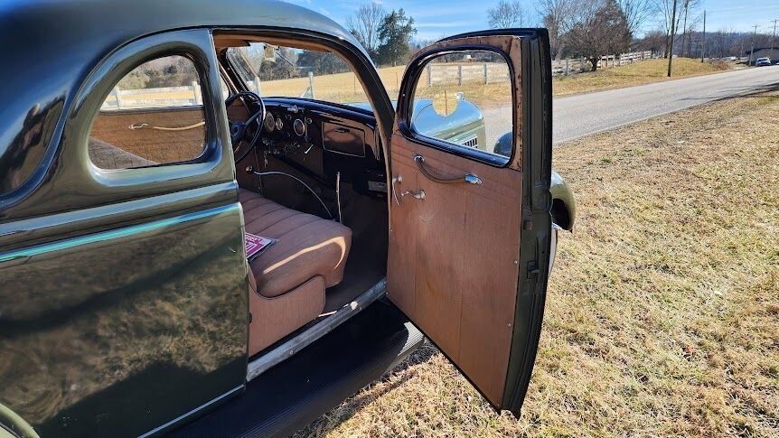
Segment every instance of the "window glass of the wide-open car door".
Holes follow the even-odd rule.
[[[417,79],[411,129],[508,162],[513,147],[513,107],[509,65],[502,55],[492,51],[446,53],[427,61]]]

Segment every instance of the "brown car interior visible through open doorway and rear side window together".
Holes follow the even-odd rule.
[[[371,105],[343,58],[321,45],[253,35],[217,34],[214,44],[245,230],[275,240],[249,260],[252,357],[385,277],[387,173]],[[334,65],[351,75],[352,87],[327,89],[295,67],[293,85],[301,87],[276,95],[273,75],[291,65],[290,57],[310,69]],[[164,75],[192,79],[192,87],[164,87],[170,85],[158,79]],[[91,163],[120,170],[200,159],[205,126],[199,79],[192,61],[181,56],[147,61],[128,74],[95,118]],[[147,88],[138,90],[139,83]],[[171,97],[183,89],[192,89],[192,98],[173,105]],[[348,96],[343,89],[350,89]],[[136,100],[128,97],[138,91]]]

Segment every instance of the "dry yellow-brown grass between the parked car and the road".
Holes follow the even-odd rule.
[[[428,345],[298,435],[779,436],[779,91],[554,160],[577,227],[521,419],[495,415]]]

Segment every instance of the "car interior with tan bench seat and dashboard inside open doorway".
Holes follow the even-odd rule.
[[[287,62],[273,54],[279,52],[306,51],[314,61],[312,51],[326,53],[272,42],[267,62]],[[230,93],[272,85],[249,83],[258,73],[245,56],[267,51],[267,40],[224,35],[215,44]],[[246,125],[249,140],[235,145],[239,200],[246,231],[277,239],[249,261],[250,357],[332,315],[386,275],[387,177],[371,107],[315,99],[307,80],[302,92],[274,97],[268,90],[264,108],[250,95],[229,102],[231,123],[263,113]]]

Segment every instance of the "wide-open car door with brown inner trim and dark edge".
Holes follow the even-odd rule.
[[[390,300],[493,406],[515,414],[538,346],[549,264],[550,83],[539,70],[548,56],[544,44],[544,31],[509,30],[423,49],[401,86],[390,144]],[[510,61],[510,157],[418,135],[408,122],[425,63],[439,53],[474,50]],[[523,81],[526,73],[537,80],[536,89]]]

